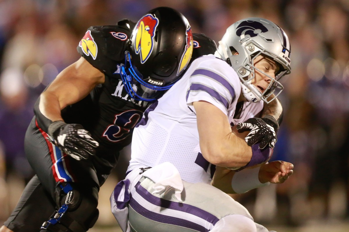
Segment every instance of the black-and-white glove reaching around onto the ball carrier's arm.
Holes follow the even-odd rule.
[[[266,115],[263,118],[250,118],[246,122],[239,122],[236,129],[239,133],[251,130],[245,137],[248,146],[260,142],[260,149],[263,149],[268,144],[271,148],[274,148],[277,141],[276,133],[279,129],[279,123],[273,116]]]

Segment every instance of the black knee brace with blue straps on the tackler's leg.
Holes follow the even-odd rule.
[[[56,197],[58,210],[41,226],[42,231],[86,232],[96,223],[99,215],[94,190],[83,190],[74,183],[61,185]]]

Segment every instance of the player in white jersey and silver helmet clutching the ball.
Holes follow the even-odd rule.
[[[111,195],[124,232],[267,231],[223,191],[283,183],[293,165],[266,163],[273,141],[250,147],[231,123],[250,136],[271,128],[253,117],[283,89],[290,43],[273,22],[247,18],[227,29],[216,56],[193,61],[136,126],[128,174]]]

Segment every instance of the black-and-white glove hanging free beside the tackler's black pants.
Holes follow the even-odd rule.
[[[76,160],[88,159],[96,153],[98,142],[80,124],[67,124],[64,121],[52,122],[47,134],[50,141]]]

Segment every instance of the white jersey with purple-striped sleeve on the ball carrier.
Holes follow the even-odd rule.
[[[210,183],[212,166],[200,151],[193,102],[217,106],[236,125],[254,117],[263,102],[244,103],[239,119],[233,119],[241,82],[225,61],[214,55],[196,59],[183,77],[144,112],[133,131],[128,171],[171,162],[190,183]]]

